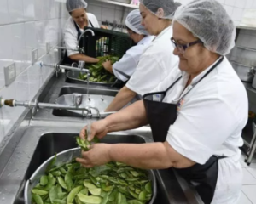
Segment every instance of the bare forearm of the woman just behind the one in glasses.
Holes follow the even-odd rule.
[[[121,108],[127,105],[135,96],[136,93],[131,91],[126,86],[121,88],[116,97],[114,97],[111,104],[108,105],[108,108],[105,110],[105,112],[119,111]]]

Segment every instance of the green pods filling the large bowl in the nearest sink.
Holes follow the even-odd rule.
[[[90,142],[76,140],[88,150]],[[151,200],[151,181],[142,169],[119,162],[84,168],[75,160],[55,167],[55,161],[56,156],[32,189],[32,204],[145,204]]]

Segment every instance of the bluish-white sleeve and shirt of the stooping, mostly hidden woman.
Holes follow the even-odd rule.
[[[133,46],[127,50],[122,59],[113,64],[113,74],[115,77],[123,82],[127,81],[127,78],[118,71],[122,71],[131,77],[135,71],[135,68],[137,67],[141,55],[143,54],[144,50],[148,48],[153,39],[154,36],[144,37],[140,42],[137,43],[136,46]]]

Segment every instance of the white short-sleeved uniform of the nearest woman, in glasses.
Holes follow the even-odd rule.
[[[211,66],[212,67],[212,66]],[[247,92],[228,59],[183,95],[211,68],[195,77],[184,90],[189,75],[174,69],[155,91],[164,91],[177,77],[164,102],[181,99],[177,120],[169,127],[166,141],[179,154],[204,164],[212,155],[227,156],[218,161],[218,182],[212,203],[234,204],[239,200],[242,183],[240,164],[243,144],[241,130],[247,123]]]

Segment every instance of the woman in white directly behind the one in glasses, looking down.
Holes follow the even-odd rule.
[[[178,58],[172,54],[172,17],[180,3],[173,0],[140,0],[142,25],[150,35],[156,36],[144,51],[135,72],[125,87],[113,99],[105,110],[119,111],[127,105],[136,94],[143,95],[161,83]]]

